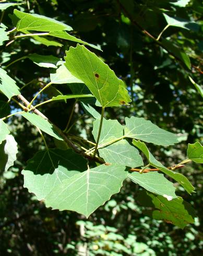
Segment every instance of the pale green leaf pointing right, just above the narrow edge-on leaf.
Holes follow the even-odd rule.
[[[144,118],[125,118],[124,135],[148,143],[169,146],[178,143],[175,134],[167,132]]]

